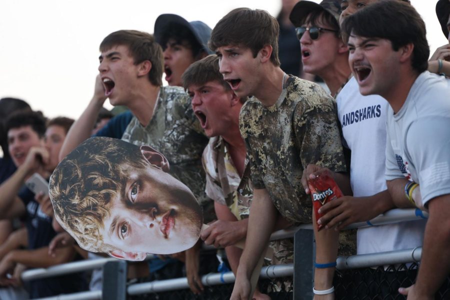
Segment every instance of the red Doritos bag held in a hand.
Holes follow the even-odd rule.
[[[339,187],[333,178],[325,173],[322,173],[314,179],[308,180],[308,187],[311,193],[312,205],[314,206],[315,220],[317,221],[322,214],[318,213],[318,209],[333,199],[343,196]],[[320,230],[323,225],[317,224],[317,229]]]

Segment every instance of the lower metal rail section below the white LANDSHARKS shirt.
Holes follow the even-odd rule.
[[[338,269],[353,269],[386,264],[397,264],[420,261],[422,247],[413,249],[386,251],[370,254],[339,256],[336,259]]]

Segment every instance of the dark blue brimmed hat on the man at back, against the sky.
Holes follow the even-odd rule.
[[[195,36],[195,39],[198,41],[198,43],[202,45],[206,53],[208,54],[213,53],[208,48],[208,40],[211,37],[212,31],[212,29],[209,28],[208,25],[206,25],[202,21],[188,22],[181,16],[172,13],[164,13],[156,18],[156,21],[154,22],[154,39],[156,40],[157,43],[159,44],[161,43],[166,28],[173,23],[188,28]]]

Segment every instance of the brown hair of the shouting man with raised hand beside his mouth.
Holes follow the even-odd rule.
[[[162,71],[164,59],[162,48],[154,40],[152,34],[138,30],[118,30],[108,34],[100,43],[100,51],[106,51],[116,45],[128,47],[130,55],[134,59],[134,64],[149,60],[151,69],[148,72],[148,79],[153,85],[162,85]]]

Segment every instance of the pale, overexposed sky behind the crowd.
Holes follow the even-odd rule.
[[[315,1],[319,2],[319,1]],[[424,18],[431,52],[446,42],[436,0],[411,0]],[[270,0],[18,0],[0,2],[0,97],[28,101],[47,116],[78,117],[93,91],[98,44],[118,29],[153,32],[156,17],[175,13],[211,28],[229,10],[247,6],[275,15]]]

